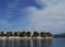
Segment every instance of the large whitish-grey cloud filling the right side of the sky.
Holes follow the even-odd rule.
[[[41,10],[29,7],[30,26],[41,31],[56,31],[65,25],[65,0],[37,0]]]

